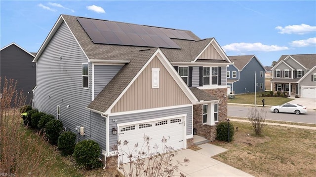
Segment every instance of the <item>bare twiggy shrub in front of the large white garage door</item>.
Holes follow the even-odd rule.
[[[119,169],[123,171],[125,177],[172,177],[174,172],[178,171],[179,166],[187,166],[189,159],[184,158],[183,161],[173,161],[172,158],[177,154],[173,147],[165,145],[167,140],[162,137],[162,152],[158,152],[158,144],[150,145],[151,138],[144,135],[144,143],[139,146],[134,144],[132,150],[123,151],[121,146],[128,145],[128,141],[118,142],[118,154],[127,154],[129,162],[123,164],[119,162]],[[140,147],[140,150],[137,150]],[[151,148],[153,147],[153,149]],[[161,150],[161,149],[160,149]],[[180,173],[180,177],[185,177]]]

